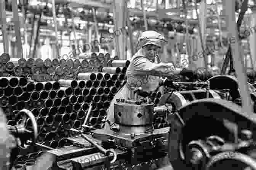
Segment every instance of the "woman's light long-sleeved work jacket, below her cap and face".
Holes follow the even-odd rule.
[[[158,59],[158,57],[156,57]],[[131,58],[126,71],[127,87],[142,87],[144,91],[154,91],[162,76],[172,76],[174,66],[171,63],[151,62],[142,54],[141,49]]]

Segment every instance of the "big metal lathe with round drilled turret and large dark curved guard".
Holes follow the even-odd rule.
[[[166,97],[161,99],[166,102],[157,107],[150,99],[138,99],[136,95],[126,101],[117,99],[114,122],[102,120],[108,129],[88,126],[90,106],[82,129],[70,129],[74,137],[68,138],[69,146],[54,149],[34,144],[56,156],[52,169],[97,169],[102,165],[106,169],[158,168],[159,160],[167,154],[174,170],[209,170],[223,168],[224,163],[224,167],[233,169],[255,169],[255,114],[248,116],[239,105],[221,99],[208,88],[209,82],[194,85],[206,88],[182,92],[186,103],[180,107]],[[208,99],[186,100],[184,94],[197,96],[196,91]],[[146,95],[140,89],[134,89],[134,94]],[[153,123],[157,116],[165,117],[168,127],[155,129]],[[26,148],[36,137],[35,121],[24,118],[19,123],[21,126],[8,128],[13,134],[33,134],[30,141],[22,140],[21,146]],[[26,126],[33,128],[26,129]]]

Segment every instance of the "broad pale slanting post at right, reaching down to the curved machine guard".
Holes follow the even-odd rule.
[[[222,1],[223,9],[226,15],[227,30],[229,30],[228,38],[231,42],[232,56],[234,58],[234,68],[237,74],[238,87],[242,99],[242,108],[245,112],[253,113],[251,97],[247,85],[247,76],[241,55],[241,49],[238,45],[237,25],[235,24],[235,1]]]

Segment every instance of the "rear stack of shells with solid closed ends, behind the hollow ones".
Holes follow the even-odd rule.
[[[114,60],[114,63],[115,61],[122,60]],[[40,58],[27,60],[10,58],[9,54],[4,53],[0,56],[0,76],[37,75],[31,78],[36,81],[58,81],[59,79],[75,79],[75,76],[80,72],[101,72],[103,67],[110,66],[111,63],[113,63],[111,58],[102,58],[100,54],[94,59],[72,58],[65,60],[54,58],[50,60],[47,58],[43,61]],[[39,75],[43,75],[44,78],[40,78]]]

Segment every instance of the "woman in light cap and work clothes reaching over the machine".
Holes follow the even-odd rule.
[[[131,58],[126,71],[127,83],[115,95],[107,112],[108,120],[114,121],[114,103],[116,99],[131,98],[131,89],[141,87],[143,91],[155,91],[163,76],[193,76],[192,71],[174,69],[172,63],[161,63],[158,52],[165,45],[165,38],[156,31],[144,31],[138,39],[140,49]],[[105,128],[108,128],[106,124]]]

